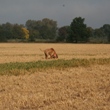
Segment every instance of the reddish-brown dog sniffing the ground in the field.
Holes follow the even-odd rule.
[[[45,49],[45,50],[41,50],[41,51],[44,52],[45,59],[58,58],[58,55],[53,48],[49,48],[49,49]]]

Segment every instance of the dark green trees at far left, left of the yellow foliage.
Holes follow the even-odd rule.
[[[23,25],[6,23],[0,25],[0,42],[11,39],[24,39],[25,32],[22,30]]]

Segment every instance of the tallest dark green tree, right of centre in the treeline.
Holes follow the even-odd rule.
[[[86,24],[84,24],[84,18],[76,17],[70,24],[70,36],[68,42],[87,42],[89,37],[89,31]]]

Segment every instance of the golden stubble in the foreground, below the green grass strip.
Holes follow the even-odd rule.
[[[0,110],[110,110],[110,68],[0,76]]]

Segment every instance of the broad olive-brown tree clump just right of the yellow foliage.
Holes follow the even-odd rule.
[[[28,20],[26,27],[33,39],[54,39],[56,37],[57,22],[44,18],[43,20]]]

